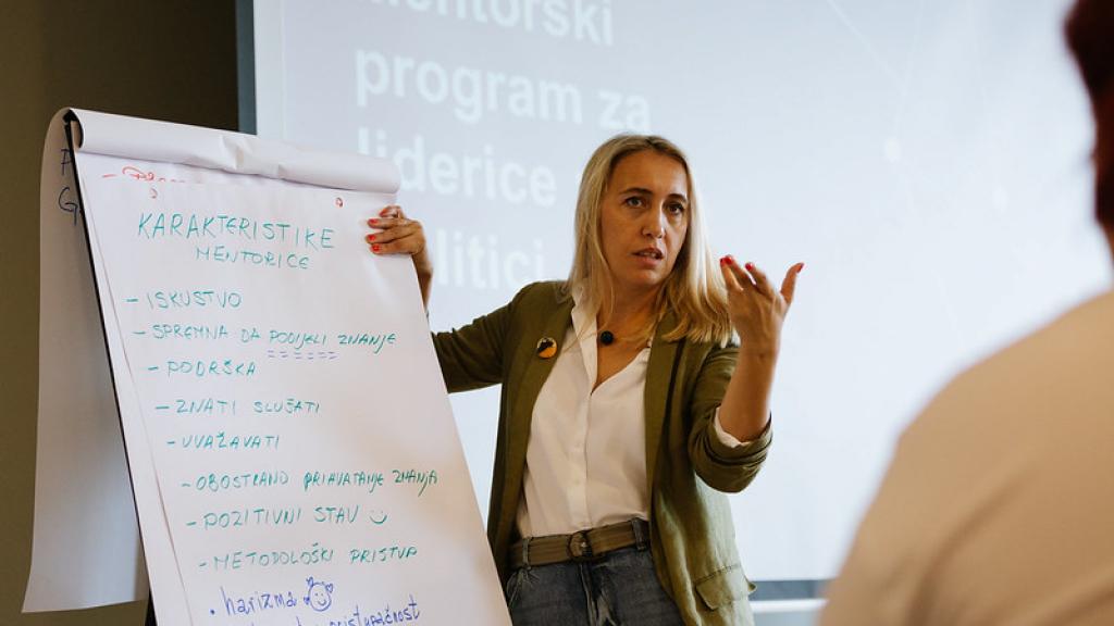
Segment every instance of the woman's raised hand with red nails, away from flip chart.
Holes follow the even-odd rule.
[[[741,354],[776,356],[781,348],[781,325],[793,304],[797,276],[804,264],[797,263],[785,272],[780,291],[773,288],[765,273],[753,263],[739,265],[729,255],[720,260],[720,270],[727,285],[731,324],[742,342]]]

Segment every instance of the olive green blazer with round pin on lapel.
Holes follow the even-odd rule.
[[[543,338],[560,342],[571,324],[573,299],[560,284],[527,285],[501,309],[433,336],[450,392],[502,384],[488,541],[504,581],[510,574],[507,550],[518,539],[534,402],[556,361],[539,356],[537,344]],[[720,441],[712,419],[737,348],[665,341],[675,323],[667,314],[658,324],[646,371],[646,480],[657,577],[686,624],[751,625],[753,586],[740,564],[724,492],[741,491],[754,479],[770,429],[736,449]]]

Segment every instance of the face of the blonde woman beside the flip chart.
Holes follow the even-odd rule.
[[[688,232],[688,177],[681,162],[641,150],[615,165],[604,190],[599,234],[618,293],[659,287]]]

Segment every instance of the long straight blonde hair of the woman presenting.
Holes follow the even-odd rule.
[[[676,145],[655,135],[616,135],[596,148],[580,178],[576,200],[576,252],[573,270],[565,283],[567,292],[583,290],[583,306],[596,313],[604,302],[614,302],[614,285],[600,242],[600,205],[615,166],[632,154],[653,150],[676,159],[684,167],[688,184],[688,228],[677,254],[676,264],[658,292],[656,314],[647,335],[666,311],[673,310],[676,327],[665,339],[725,344],[732,338],[727,316],[727,293],[723,276],[705,239],[704,219],[700,212],[688,159]],[[605,312],[605,317],[609,312]]]

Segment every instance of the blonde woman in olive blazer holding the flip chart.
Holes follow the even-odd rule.
[[[412,255],[428,300],[421,225],[381,215],[372,253]],[[568,280],[434,335],[450,391],[502,384],[488,540],[515,624],[753,623],[723,492],[765,459],[802,268],[716,275],[685,156],[620,135],[585,167]]]

